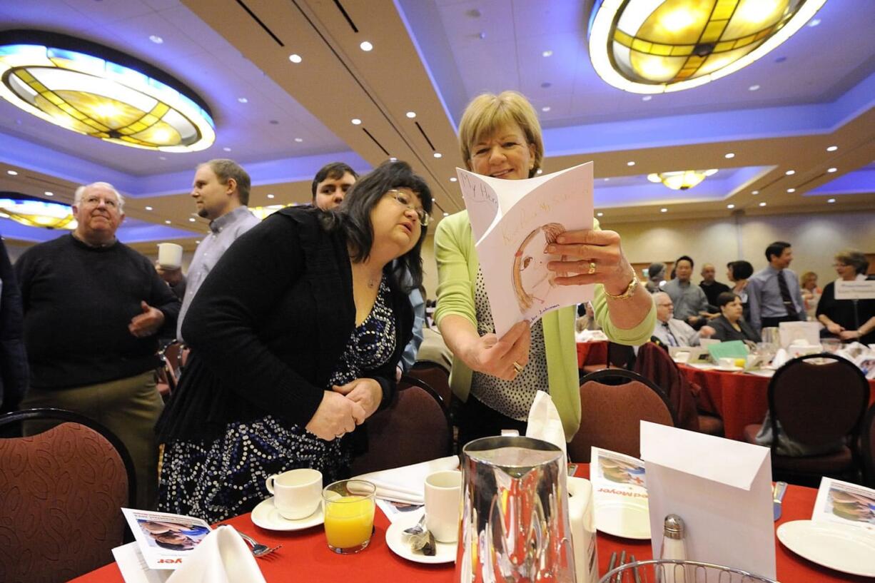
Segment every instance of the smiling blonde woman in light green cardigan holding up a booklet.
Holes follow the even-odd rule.
[[[493,178],[535,176],[543,160],[541,125],[522,95],[505,91],[476,97],[459,125],[465,166]],[[655,323],[653,299],[638,284],[623,255],[620,235],[598,228],[565,231],[547,243],[553,284],[597,284],[596,320],[623,344],[648,341]],[[538,390],[549,392],[571,439],[580,423],[574,306],[543,315],[532,327],[519,322],[498,338],[486,300],[471,223],[465,211],[445,218],[435,234],[435,320],[453,353],[451,386],[463,401],[459,444],[501,429],[525,431]]]

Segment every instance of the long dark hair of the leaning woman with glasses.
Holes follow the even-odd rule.
[[[425,180],[414,173],[407,162],[383,162],[349,189],[339,207],[322,214],[325,228],[342,228],[346,232],[346,242],[353,248],[353,261],[364,261],[370,256],[374,244],[371,211],[393,188],[409,188],[422,200],[425,212],[431,213],[431,191]],[[423,227],[413,249],[391,263],[390,273],[395,277],[395,284],[406,293],[423,283],[420,251],[427,233],[428,228]],[[410,277],[403,277],[405,271]]]

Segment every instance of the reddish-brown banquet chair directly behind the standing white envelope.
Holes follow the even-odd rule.
[[[676,426],[669,397],[631,370],[605,369],[580,385],[580,428],[568,444],[571,461],[588,463],[591,446],[641,457],[641,421]]]

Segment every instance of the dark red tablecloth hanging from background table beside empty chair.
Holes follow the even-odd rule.
[[[690,381],[702,387],[697,405],[723,419],[725,435],[742,439],[746,425],[762,423],[768,409],[766,376],[702,370],[678,365]],[[875,381],[869,381],[869,404],[875,403]]]

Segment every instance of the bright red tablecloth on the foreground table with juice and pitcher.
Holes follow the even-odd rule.
[[[588,464],[578,466],[577,475],[588,478]],[[817,491],[813,488],[790,486],[784,498],[784,511],[781,523],[811,517]],[[374,517],[376,532],[370,546],[355,555],[339,556],[333,554],[325,545],[325,531],[321,526],[298,532],[276,532],[263,530],[249,518],[248,514],[237,516],[226,522],[255,537],[263,544],[283,544],[283,548],[268,558],[258,561],[268,583],[286,581],[319,581],[320,583],[385,583],[393,581],[406,583],[412,581],[441,581],[450,583],[453,579],[454,565],[420,565],[397,557],[386,545],[388,518],[377,512]],[[607,565],[613,551],[626,550],[638,560],[652,558],[649,541],[628,540],[598,533],[599,573],[607,572]],[[783,583],[831,583],[833,581],[871,581],[864,577],[852,577],[830,571],[820,565],[786,550],[775,538],[775,553],[778,579]],[[115,563],[106,565],[77,579],[76,583],[123,583],[122,573]],[[241,582],[242,583],[242,582]]]

